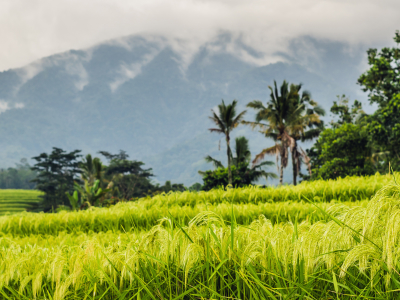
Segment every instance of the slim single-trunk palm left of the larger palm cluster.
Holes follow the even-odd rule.
[[[222,104],[218,105],[218,115],[214,110],[211,110],[212,116],[209,117],[218,128],[210,128],[211,132],[218,132],[225,135],[226,140],[226,155],[228,156],[228,181],[232,185],[232,172],[231,172],[231,148],[229,146],[230,142],[230,132],[236,128],[246,111],[242,111],[240,114],[236,115],[236,104],[237,101],[233,100],[232,104],[225,105],[224,100]]]

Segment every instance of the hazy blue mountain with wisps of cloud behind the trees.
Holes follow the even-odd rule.
[[[327,111],[339,94],[365,103],[356,85],[365,47],[299,37],[265,64],[261,53],[228,32],[189,46],[135,35],[1,72],[0,167],[53,146],[83,154],[123,149],[153,168],[156,181],[190,185],[201,182],[198,170],[212,168],[204,156],[226,161],[224,139],[207,131],[210,110],[221,99],[237,99],[240,111],[251,100],[265,102],[268,85],[286,79],[303,83]],[[234,131],[239,135],[250,139],[253,157],[272,145],[243,126]]]

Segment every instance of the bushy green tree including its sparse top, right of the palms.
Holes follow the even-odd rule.
[[[333,115],[331,129],[325,129],[315,145],[308,150],[312,175],[304,179],[334,179],[351,175],[375,173],[376,155],[371,148],[368,132],[368,116],[362,105],[355,100],[349,106],[345,95],[339,97],[331,107]]]

